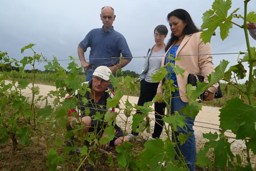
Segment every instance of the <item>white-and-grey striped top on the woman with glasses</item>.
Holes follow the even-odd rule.
[[[161,63],[164,55],[164,48],[154,52],[151,50],[151,53],[148,57],[148,72],[145,75],[145,81],[148,83],[152,83],[151,75],[155,74],[156,71],[159,71],[161,68]]]

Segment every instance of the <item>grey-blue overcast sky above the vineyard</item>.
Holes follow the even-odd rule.
[[[116,18],[114,29],[124,35],[133,57],[145,56],[147,49],[153,45],[154,28],[159,24],[169,26],[166,17],[174,9],[183,8],[190,13],[197,27],[202,24],[203,13],[211,9],[213,0],[1,0],[0,10],[0,50],[7,51],[10,57],[21,60],[24,56],[33,54],[26,50],[21,54],[21,48],[30,43],[33,48],[48,59],[56,56],[58,60],[77,56],[77,45],[93,28],[102,26],[100,9],[112,6]],[[233,0],[232,8],[239,8],[238,14],[243,15],[243,0]],[[248,3],[248,12],[255,11],[256,1]],[[234,20],[242,25],[242,20]],[[165,40],[170,38],[170,29]],[[251,46],[256,41],[249,38]],[[222,41],[217,29],[216,36],[211,39],[213,53],[234,53],[246,51],[243,29],[233,26],[227,39]],[[88,58],[89,48],[85,53]],[[231,65],[236,64],[237,55],[214,55],[214,64],[226,59]],[[59,61],[66,69],[70,61]],[[77,61],[80,64],[80,61]],[[134,58],[123,70],[140,73],[143,58]],[[37,65],[43,70],[44,65]],[[30,68],[27,68],[30,69]]]

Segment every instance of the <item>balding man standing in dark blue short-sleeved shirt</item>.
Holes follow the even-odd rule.
[[[86,81],[92,79],[92,74],[98,66],[108,66],[114,74],[115,71],[132,60],[132,54],[124,36],[115,31],[112,26],[115,20],[114,9],[108,6],[103,7],[100,20],[103,23],[102,28],[92,29],[77,48],[81,65],[84,71],[87,71]],[[84,57],[84,52],[88,47],[91,48],[89,62]],[[121,62],[119,62],[119,59],[111,58],[119,58],[121,54],[124,57]]]

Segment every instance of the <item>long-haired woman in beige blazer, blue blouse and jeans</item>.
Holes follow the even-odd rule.
[[[174,111],[180,111],[182,107],[186,107],[187,105],[188,99],[184,95],[186,94],[188,74],[203,75],[204,82],[208,83],[207,76],[214,71],[214,64],[212,63],[211,45],[209,43],[204,44],[202,39],[200,39],[202,32],[199,32],[187,11],[176,9],[168,14],[167,21],[169,22],[172,33],[166,45],[166,53],[162,59],[162,66],[168,62],[172,62],[185,70],[183,73],[184,78],[182,78],[181,74],[176,75],[171,67],[169,68],[169,74],[165,78],[173,80],[173,86],[176,88],[176,91],[172,93],[172,97],[176,98],[171,98],[171,113],[174,113]],[[168,58],[169,54],[173,54],[174,58],[175,55],[179,55],[180,60],[170,60]],[[166,69],[168,71],[167,67]],[[163,89],[161,88],[163,82],[164,80],[159,83],[157,90],[157,93],[161,93],[161,95],[163,94]],[[206,91],[204,100],[214,99],[217,87],[218,83],[211,86]],[[180,114],[183,115],[183,113]],[[196,142],[193,130],[194,118],[186,117],[184,121],[187,129],[178,126],[178,131],[174,133],[175,137],[178,137],[180,133],[190,135],[186,143],[181,146],[179,145],[179,148],[185,157],[186,163],[188,163],[188,168],[194,170],[196,158]],[[178,138],[176,141],[178,141]]]

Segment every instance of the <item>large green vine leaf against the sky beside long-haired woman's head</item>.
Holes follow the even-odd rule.
[[[201,29],[204,30],[207,28],[207,30],[201,34],[200,38],[202,38],[204,43],[210,42],[211,36],[218,26],[220,27],[221,39],[224,40],[227,38],[229,29],[232,28],[232,24],[229,21],[232,20],[232,15],[239,10],[237,8],[227,16],[228,10],[231,8],[231,3],[231,0],[215,0],[212,3],[212,9],[203,14]]]

